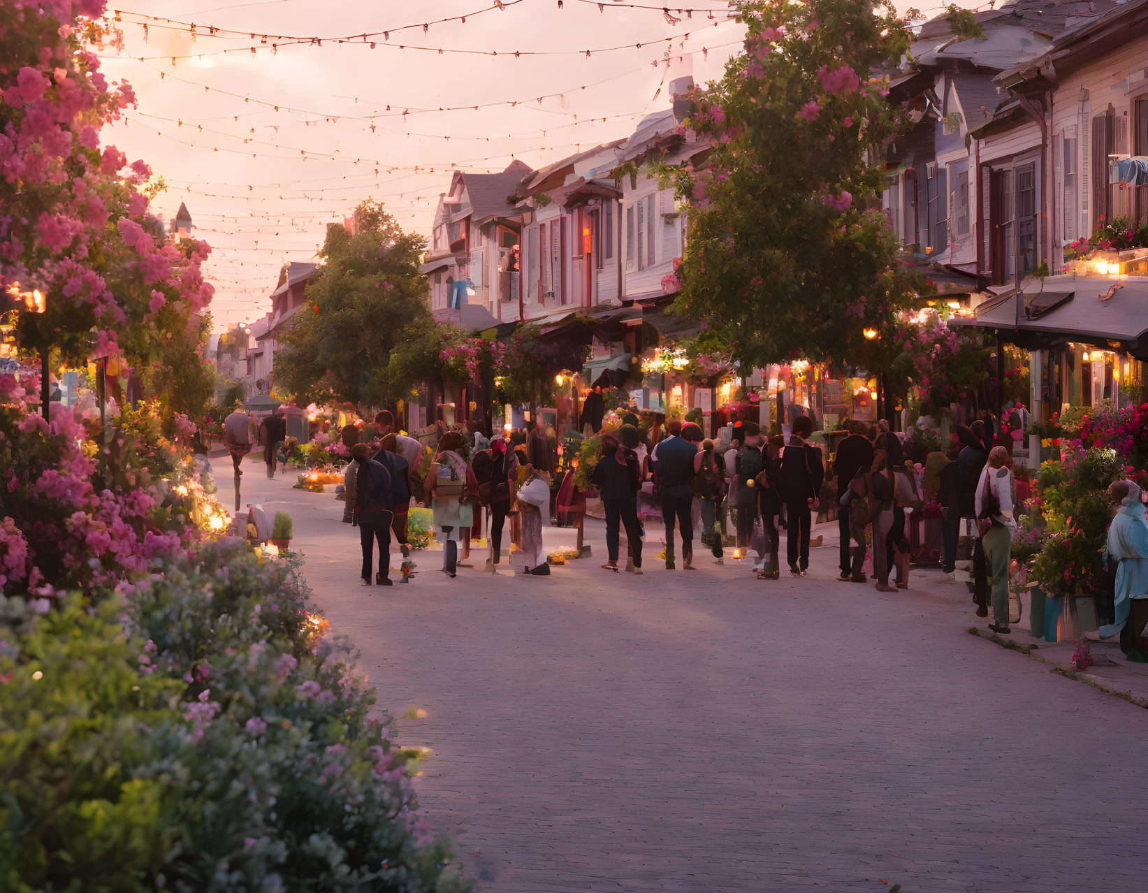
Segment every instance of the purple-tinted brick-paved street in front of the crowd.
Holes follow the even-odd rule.
[[[595,527],[550,578],[362,589],[342,504],[248,467],[380,705],[427,712],[398,737],[479,891],[1148,888],[1148,713],[964,632],[964,587],[838,583],[833,548],[614,575]]]

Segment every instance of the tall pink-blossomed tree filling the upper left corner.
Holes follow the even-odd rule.
[[[46,296],[45,312],[18,316],[25,349],[170,366],[165,351],[185,349],[211,300],[210,249],[166,240],[147,213],[150,168],[100,146],[102,125],[135,102],[100,71],[96,52],[119,38],[104,6],[0,6],[0,293]]]

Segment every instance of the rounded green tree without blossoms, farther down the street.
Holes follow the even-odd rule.
[[[365,409],[409,396],[424,366],[390,366],[412,327],[426,343],[430,318],[419,257],[426,241],[403,232],[382,204],[363,202],[355,233],[327,226],[324,265],[308,286],[308,305],[276,354],[276,371],[301,402]]]

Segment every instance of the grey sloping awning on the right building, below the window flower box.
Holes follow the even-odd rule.
[[[972,318],[951,319],[953,328],[998,329],[1023,347],[1053,347],[1069,341],[1107,344],[1148,358],[1148,277],[1123,280],[1099,275],[1054,275],[1033,280],[1019,309],[1011,286],[976,308]],[[1112,343],[1116,342],[1116,343]]]

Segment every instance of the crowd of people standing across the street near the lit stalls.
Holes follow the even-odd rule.
[[[665,436],[652,448],[634,421],[600,435],[600,459],[591,475],[606,521],[605,569],[622,569],[619,561],[625,528],[625,569],[642,573],[645,533],[638,498],[645,489],[660,505],[667,569],[676,569],[678,561],[683,570],[697,567],[697,506],[700,542],[715,562],[726,560],[729,519],[734,556],[755,557],[752,567],[759,578],[781,576],[782,530],[790,574],[807,573],[810,530],[813,519],[823,508],[820,499],[827,473],[822,450],[808,441],[813,434],[809,417],[793,420],[788,440],[768,436],[752,421],[738,421],[715,441],[705,437],[697,424],[672,420]],[[910,560],[906,510],[921,502],[916,476],[906,465],[901,440],[886,422],[866,426],[851,421],[848,426],[850,434],[838,444],[829,469],[837,482],[838,580],[870,582],[862,568],[871,545],[877,590],[906,589]],[[994,629],[1008,631],[1008,556],[1015,530],[1016,483],[1008,452],[987,449],[977,426],[979,422],[956,429],[952,461],[941,469],[940,498],[946,505],[944,564],[946,570],[954,567],[960,520],[977,519],[980,535],[974,566],[978,613],[987,614],[991,578]],[[538,469],[532,464],[530,432],[487,437],[476,425],[470,426],[471,430],[443,427],[433,433],[433,459],[420,475],[422,441],[396,433],[394,418],[387,411],[378,413],[373,427],[369,442],[355,426],[344,428],[354,457],[344,479],[344,520],[362,528],[364,584],[390,584],[387,570],[391,536],[402,546],[404,559],[409,558],[406,511],[412,498],[433,506],[434,526],[443,542],[442,570],[449,576],[470,566],[472,536],[481,536],[484,527],[480,523],[482,511],[489,519],[489,572],[499,569],[509,523],[510,539],[521,557],[520,569],[535,575],[550,573],[542,528],[552,505],[553,469]],[[544,449],[534,452],[549,455]],[[375,544],[380,569],[372,581]]]

